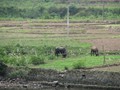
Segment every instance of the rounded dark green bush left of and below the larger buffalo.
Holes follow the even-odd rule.
[[[44,64],[45,58],[43,56],[32,56],[31,61],[33,65]]]

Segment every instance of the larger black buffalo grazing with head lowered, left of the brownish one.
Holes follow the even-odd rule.
[[[62,55],[63,58],[65,58],[67,56],[67,51],[65,47],[57,47],[55,48],[55,55],[59,56]]]

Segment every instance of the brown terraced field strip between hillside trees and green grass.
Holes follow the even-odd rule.
[[[120,50],[120,24],[109,22],[0,21],[0,42],[12,39],[72,38],[95,44],[100,49]],[[6,42],[7,43],[7,42]]]

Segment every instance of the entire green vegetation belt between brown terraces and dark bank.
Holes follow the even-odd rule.
[[[77,42],[72,39],[49,39],[47,42],[46,40],[39,40],[39,42],[40,44],[36,46],[34,46],[34,43],[29,44],[29,42],[26,45],[17,44],[16,42],[16,44],[9,46],[0,46],[1,60],[10,66],[28,66],[57,70],[104,65],[102,54],[99,57],[90,56],[91,44],[89,43]],[[54,55],[55,46],[59,46],[61,43],[67,48],[67,58]],[[117,51],[116,55],[106,56],[105,64],[117,63],[119,58]]]

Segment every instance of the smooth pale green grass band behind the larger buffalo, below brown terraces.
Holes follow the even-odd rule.
[[[23,36],[23,35],[22,35]],[[21,36],[21,37],[22,37]],[[30,36],[30,35],[29,35]],[[13,36],[14,37],[14,36]],[[85,47],[89,47],[90,44],[89,43],[81,43],[78,40],[73,40],[73,39],[68,39],[68,38],[33,38],[32,37],[28,37],[28,38],[24,38],[23,39],[19,39],[14,37],[14,39],[3,39],[0,40],[0,46],[6,46],[6,45],[16,45],[16,44],[20,44],[22,46],[66,46],[66,47],[81,47],[81,48],[85,48]]]

